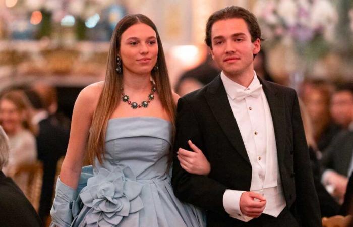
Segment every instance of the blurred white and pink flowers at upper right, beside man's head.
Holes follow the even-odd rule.
[[[300,54],[317,58],[335,38],[338,13],[329,0],[260,0],[254,8],[264,38],[292,41]]]

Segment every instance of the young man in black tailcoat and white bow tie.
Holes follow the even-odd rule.
[[[297,94],[256,76],[261,40],[244,8],[209,17],[205,41],[222,72],[178,102],[174,192],[207,210],[208,226],[321,226]],[[188,140],[210,162],[208,176],[183,169]]]

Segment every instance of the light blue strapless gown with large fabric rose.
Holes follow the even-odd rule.
[[[80,192],[83,207],[72,226],[205,226],[199,209],[174,196],[167,171],[171,129],[154,117],[110,119],[104,161],[96,160]]]

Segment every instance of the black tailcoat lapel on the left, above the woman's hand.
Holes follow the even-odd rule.
[[[211,111],[224,134],[239,152],[239,154],[250,164],[248,153],[245,149],[242,135],[238,124],[231,110],[227,93],[225,92],[222,80],[218,75],[210,84],[205,92],[205,97]]]

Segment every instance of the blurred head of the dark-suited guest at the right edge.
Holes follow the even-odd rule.
[[[353,130],[353,82],[338,85],[331,98],[331,116],[343,129]]]

